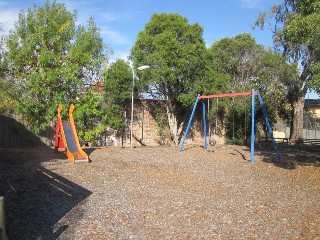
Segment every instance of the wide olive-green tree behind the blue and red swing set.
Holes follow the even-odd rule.
[[[291,86],[296,79],[296,69],[287,64],[280,54],[265,50],[246,33],[234,38],[223,38],[212,44],[209,51],[213,56],[212,65],[230,76],[228,92],[259,90],[263,95],[271,122],[275,122],[279,115],[286,112],[290,103],[287,100],[292,92]],[[232,101],[229,105],[232,106],[230,111],[232,116],[228,117],[230,124],[227,129],[233,129],[233,124],[243,125],[243,118],[249,118],[249,114],[245,114],[244,101]],[[264,122],[262,112],[258,112],[257,116],[257,121]],[[247,120],[249,122],[249,119]],[[241,130],[243,127],[237,126],[236,129]],[[240,130],[239,138],[245,135],[244,129]],[[229,132],[228,135],[230,137],[234,134]]]

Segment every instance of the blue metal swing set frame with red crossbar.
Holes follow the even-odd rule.
[[[264,118],[266,120],[266,125],[268,127],[268,131],[269,131],[269,134],[270,134],[270,137],[271,137],[271,140],[272,140],[272,144],[273,144],[273,147],[274,149],[276,150],[276,153],[277,153],[277,158],[279,161],[281,161],[281,155],[280,155],[280,152],[279,152],[279,149],[277,147],[277,144],[276,144],[276,141],[274,140],[274,137],[273,137],[273,133],[272,133],[272,128],[271,128],[271,125],[270,125],[270,122],[269,122],[269,119],[268,119],[268,116],[267,116],[267,111],[264,107],[264,104],[263,104],[263,101],[262,101],[262,97],[260,95],[260,92],[257,90],[255,91],[254,89],[251,91],[251,92],[241,92],[241,93],[226,93],[226,94],[215,94],[215,95],[208,95],[208,96],[200,96],[200,94],[197,96],[196,98],[196,101],[195,101],[195,104],[194,104],[194,107],[193,107],[193,110],[192,110],[192,113],[191,113],[191,117],[189,119],[189,123],[188,123],[188,126],[187,126],[187,129],[186,129],[186,132],[184,133],[184,136],[183,136],[183,139],[182,139],[182,143],[181,143],[181,146],[180,146],[180,152],[183,150],[183,145],[184,145],[184,142],[187,138],[187,135],[188,135],[188,132],[190,130],[190,126],[191,126],[191,123],[192,123],[192,119],[193,119],[193,116],[194,116],[194,113],[195,113],[195,110],[197,108],[197,105],[198,105],[198,102],[199,100],[203,100],[203,99],[209,99],[209,98],[222,98],[222,97],[236,97],[236,96],[252,96],[251,99],[252,99],[252,108],[251,108],[251,164],[254,164],[254,138],[255,138],[255,132],[254,132],[254,129],[255,129],[255,123],[254,123],[254,113],[255,113],[255,96],[258,96],[258,99],[259,99],[259,102],[260,102],[260,106],[262,108],[262,111],[263,111],[263,115],[264,115]],[[204,101],[202,101],[202,113],[203,113],[203,135],[204,135],[204,148],[205,149],[208,149],[208,143],[207,143],[207,126],[206,126],[206,107],[205,107],[205,103]]]

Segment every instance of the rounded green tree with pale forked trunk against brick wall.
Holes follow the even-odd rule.
[[[199,24],[189,24],[179,14],[153,14],[131,49],[134,67],[150,66],[139,73],[139,83],[149,95],[165,100],[174,144],[181,138],[184,96],[204,78],[207,49],[202,33]]]

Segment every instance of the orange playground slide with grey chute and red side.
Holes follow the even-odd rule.
[[[69,121],[61,120],[62,104],[58,107],[58,118],[55,135],[55,151],[64,148],[71,164],[89,162],[88,155],[81,149],[72,113],[74,105],[69,108]]]

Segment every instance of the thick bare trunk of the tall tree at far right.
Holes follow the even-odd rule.
[[[296,143],[303,138],[303,108],[304,97],[300,97],[294,104],[293,122],[290,128],[290,141]]]

